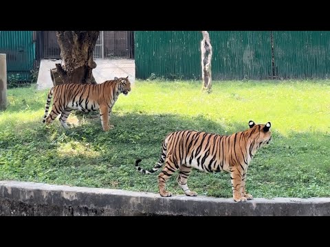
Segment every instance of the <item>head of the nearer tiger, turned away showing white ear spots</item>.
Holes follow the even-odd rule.
[[[259,149],[265,145],[268,145],[272,140],[272,131],[270,127],[272,124],[267,122],[267,124],[254,124],[254,121],[249,121],[251,137],[256,143],[256,149]]]

